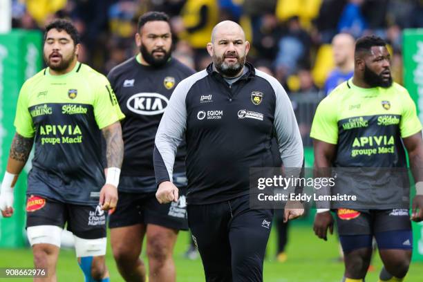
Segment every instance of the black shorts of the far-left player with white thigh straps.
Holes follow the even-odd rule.
[[[106,212],[100,205],[73,205],[30,195],[26,200],[26,227],[55,225],[83,239],[106,237]]]

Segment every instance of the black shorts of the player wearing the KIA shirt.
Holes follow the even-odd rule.
[[[178,178],[179,179],[179,178]],[[129,193],[118,192],[118,205],[110,214],[109,228],[125,227],[135,224],[154,224],[177,230],[188,230],[187,201],[184,182],[173,183],[179,188],[178,202],[160,204],[156,192]]]

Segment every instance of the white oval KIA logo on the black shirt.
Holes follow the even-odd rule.
[[[164,112],[169,100],[159,93],[137,93],[132,95],[126,106],[129,111],[140,115],[158,115]]]

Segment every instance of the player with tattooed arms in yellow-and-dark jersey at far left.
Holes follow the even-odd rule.
[[[12,216],[12,187],[35,144],[26,227],[34,265],[47,274],[35,281],[57,280],[65,224],[73,232],[85,281],[109,281],[104,211],[116,207],[118,200],[124,115],[106,77],[77,62],[78,53],[79,36],[71,22],[58,19],[46,27],[48,68],[21,88],[16,134],[1,183],[0,209],[3,216]]]

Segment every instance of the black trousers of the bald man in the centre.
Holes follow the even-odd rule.
[[[263,281],[272,209],[250,209],[250,196],[188,205],[189,228],[207,282]]]

